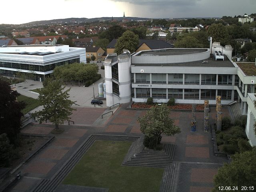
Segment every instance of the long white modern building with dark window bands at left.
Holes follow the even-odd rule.
[[[24,45],[0,47],[0,75],[15,77],[17,72],[33,72],[44,80],[56,66],[86,63],[85,48],[68,45]]]

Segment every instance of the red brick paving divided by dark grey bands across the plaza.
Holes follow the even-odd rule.
[[[130,110],[126,107],[128,104],[123,104],[102,126],[94,126],[94,123],[106,108],[78,108],[72,116],[75,125],[60,126],[64,128],[64,132],[54,134],[55,140],[20,168],[22,175],[51,178],[77,147],[93,133],[143,136],[137,118],[145,115],[147,110]],[[229,115],[226,108],[223,107],[222,110],[224,115]],[[214,112],[214,109],[210,108],[211,122],[215,120]],[[225,157],[214,155],[211,134],[203,130],[203,114],[196,112],[197,131],[194,133],[190,132],[191,111],[172,111],[170,117],[182,132],[175,136],[162,136],[162,142],[176,144],[174,161],[181,162],[177,192],[210,192],[214,186],[214,174],[227,162]],[[22,129],[22,132],[51,134],[53,129],[54,125],[51,124],[31,124]],[[20,180],[12,189],[14,192],[30,191],[31,186],[38,181]],[[26,183],[30,183],[30,187],[27,187],[29,184]]]

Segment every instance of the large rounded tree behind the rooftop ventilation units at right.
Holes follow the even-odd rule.
[[[213,42],[220,42],[223,46],[230,43],[228,32],[222,24],[212,24],[208,29],[208,36],[212,37]]]

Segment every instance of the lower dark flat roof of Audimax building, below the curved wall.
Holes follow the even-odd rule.
[[[193,49],[194,50],[194,49]],[[170,66],[170,67],[235,67],[230,60],[225,57],[223,60],[215,60],[213,54],[210,54],[210,58],[206,60],[200,61],[193,61],[193,62],[184,62],[184,63],[167,63],[167,64],[150,64],[150,63],[143,63],[143,64],[136,64],[132,63],[134,66]]]

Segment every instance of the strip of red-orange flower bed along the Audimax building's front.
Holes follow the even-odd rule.
[[[148,105],[146,103],[133,103],[131,108],[149,109],[153,105]],[[192,110],[192,104],[175,104],[174,106],[169,106],[170,109],[180,109],[180,110]],[[204,110],[204,105],[196,105],[196,110]]]

